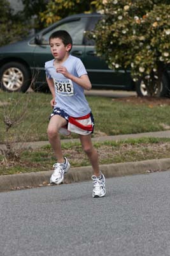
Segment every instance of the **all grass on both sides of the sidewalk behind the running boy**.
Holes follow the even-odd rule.
[[[5,93],[0,91],[0,144],[6,141],[47,140],[46,128],[52,111],[50,93]],[[170,126],[170,105],[148,103],[132,104],[106,97],[87,97],[94,114],[94,135],[131,134],[163,131]],[[18,122],[6,131],[4,118]],[[64,136],[62,136],[64,138]],[[77,138],[72,134],[70,138]],[[99,153],[100,164],[143,161],[170,157],[170,139],[141,138],[122,141],[94,143]],[[71,166],[88,166],[89,159],[82,152],[80,142],[62,143],[64,156]],[[0,175],[39,172],[50,170],[55,157],[50,144],[33,149],[24,149],[15,161],[5,161],[0,155]]]

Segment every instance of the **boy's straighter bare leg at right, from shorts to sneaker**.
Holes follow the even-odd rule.
[[[98,158],[96,148],[94,148],[92,145],[91,134],[80,135],[80,141],[81,141],[83,150],[89,157],[90,163],[92,164],[94,175],[99,177],[101,175],[101,172],[99,170],[99,158]]]

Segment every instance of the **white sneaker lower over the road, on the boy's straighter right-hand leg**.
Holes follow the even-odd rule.
[[[103,197],[106,194],[104,175],[102,174],[101,179],[97,178],[95,175],[92,175],[92,180],[93,180],[93,184],[94,184],[92,196],[93,197]]]

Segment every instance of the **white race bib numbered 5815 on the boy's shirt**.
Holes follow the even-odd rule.
[[[55,92],[62,96],[73,96],[74,87],[70,79],[53,79],[55,85]]]

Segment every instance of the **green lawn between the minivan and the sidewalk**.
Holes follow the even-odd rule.
[[[9,138],[13,141],[14,136],[15,141],[47,140],[46,128],[52,111],[50,99],[50,93],[0,92],[0,143]],[[166,125],[170,125],[169,105],[150,108],[148,104],[94,96],[87,97],[87,100],[96,122],[94,136],[163,131]],[[24,118],[6,132],[4,116],[10,116],[13,120],[20,116]],[[76,137],[76,134],[71,135],[71,138]]]

